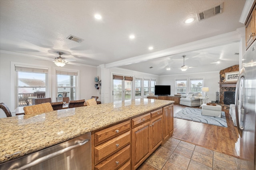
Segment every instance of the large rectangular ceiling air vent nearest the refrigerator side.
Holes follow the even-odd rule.
[[[203,12],[197,13],[198,21],[210,18],[212,16],[216,16],[218,14],[221,14],[223,12],[223,3],[218,4],[212,8],[209,8],[207,10],[204,10]]]

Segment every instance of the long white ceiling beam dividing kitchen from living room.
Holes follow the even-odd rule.
[[[239,42],[240,38],[241,38],[241,34],[239,33],[239,31],[236,30],[229,33],[217,35],[214,37],[194,41],[191,43],[178,45],[176,47],[171,47],[168,49],[156,51],[153,53],[148,53],[148,54],[139,55],[136,57],[131,57],[129,59],[108,63],[108,64],[105,64],[105,68],[112,68],[112,67],[124,66],[128,64],[140,63],[142,61],[148,61],[151,59],[156,59],[158,57],[167,57],[170,55],[177,55],[184,52],[196,51],[200,49],[226,45],[229,43]]]

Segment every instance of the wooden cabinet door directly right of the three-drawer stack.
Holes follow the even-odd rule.
[[[149,125],[150,121],[132,129],[132,169],[138,168],[150,155]]]

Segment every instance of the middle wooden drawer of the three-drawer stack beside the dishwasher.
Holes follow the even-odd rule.
[[[106,143],[96,146],[94,148],[95,164],[129,144],[130,138],[130,131],[128,131],[114,139],[110,139]]]

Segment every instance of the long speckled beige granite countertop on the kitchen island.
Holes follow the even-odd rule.
[[[136,99],[0,119],[0,163],[172,104]]]

